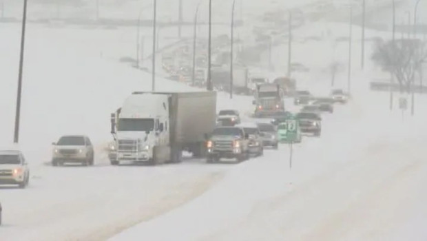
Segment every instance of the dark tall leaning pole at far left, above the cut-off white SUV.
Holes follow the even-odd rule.
[[[19,122],[21,118],[21,92],[22,92],[22,72],[23,72],[23,53],[25,47],[25,25],[27,23],[27,0],[23,1],[22,29],[21,29],[21,54],[19,56],[19,76],[17,92],[17,111],[15,113],[15,129],[13,142],[19,142]]]

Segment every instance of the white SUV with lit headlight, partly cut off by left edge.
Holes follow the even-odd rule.
[[[30,169],[21,151],[0,151],[0,185],[19,185],[25,188],[30,182]]]

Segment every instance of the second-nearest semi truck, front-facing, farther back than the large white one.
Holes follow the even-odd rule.
[[[255,116],[272,116],[277,112],[284,112],[284,94],[280,85],[273,83],[258,85],[254,97]]]

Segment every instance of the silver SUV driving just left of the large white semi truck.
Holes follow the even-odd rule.
[[[54,146],[52,165],[81,163],[94,165],[94,147],[87,136],[62,136]]]

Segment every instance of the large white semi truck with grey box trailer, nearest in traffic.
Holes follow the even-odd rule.
[[[207,154],[216,126],[216,92],[134,92],[111,114],[110,162],[179,163],[183,151]]]

